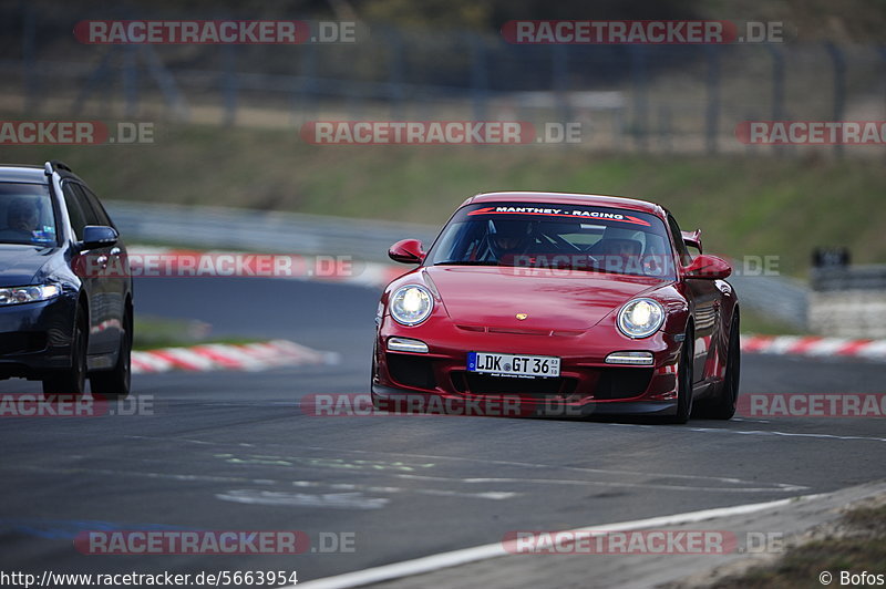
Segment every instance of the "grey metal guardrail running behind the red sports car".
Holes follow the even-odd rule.
[[[390,261],[388,248],[400,239],[412,237],[430,246],[439,230],[431,225],[227,207],[126,202],[105,205],[131,242],[352,256],[363,261]],[[743,304],[792,326],[806,326],[808,288],[799,280],[741,275],[729,280]]]

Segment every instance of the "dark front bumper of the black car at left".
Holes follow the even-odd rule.
[[[70,368],[75,301],[55,299],[0,307],[0,379],[43,378]]]

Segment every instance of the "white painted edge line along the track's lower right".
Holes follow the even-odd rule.
[[[818,497],[818,495],[807,495],[800,497],[800,499],[811,499]],[[729,517],[735,515],[753,514],[773,507],[782,507],[791,502],[797,500],[797,497],[789,499],[779,499],[766,503],[753,503],[746,505],[736,505],[734,507],[720,507],[715,509],[703,509],[700,512],[689,512],[684,514],[676,514],[670,516],[650,517],[647,519],[636,519],[632,521],[619,521],[616,524],[585,526],[569,530],[569,534],[581,534],[593,530],[617,529],[619,531],[630,531],[635,529],[659,528],[664,526],[677,526],[681,524],[692,524],[696,521],[703,521],[705,519],[714,519],[719,517]],[[307,581],[298,585],[298,589],[343,589],[348,587],[362,587],[375,582],[390,581],[392,579],[400,579],[403,577],[411,577],[413,575],[421,575],[444,568],[455,567],[459,565],[466,565],[468,562],[476,562],[478,560],[487,560],[501,556],[507,556],[508,552],[503,542],[485,544],[482,546],[474,546],[472,548],[463,548],[460,550],[452,550],[450,552],[441,552],[413,560],[404,560],[402,562],[393,562],[391,565],[383,565],[381,567],[373,567],[369,569],[358,570],[354,572],[346,572],[334,577],[326,577],[313,581]],[[285,586],[280,589],[293,589],[296,586]]]

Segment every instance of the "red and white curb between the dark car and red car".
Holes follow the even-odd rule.
[[[288,340],[230,344],[206,343],[189,348],[162,348],[134,351],[133,374],[187,370],[259,371],[280,366],[331,365],[339,363],[336,352],[321,352]]]

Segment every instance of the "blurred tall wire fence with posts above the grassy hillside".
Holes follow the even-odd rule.
[[[771,152],[736,138],[743,121],[886,120],[882,46],[517,45],[384,23],[361,24],[354,43],[301,45],[89,45],[72,32],[90,19],[186,18],[194,14],[0,9],[0,110],[275,128],[313,120],[579,123],[580,141],[566,146],[707,154]]]

